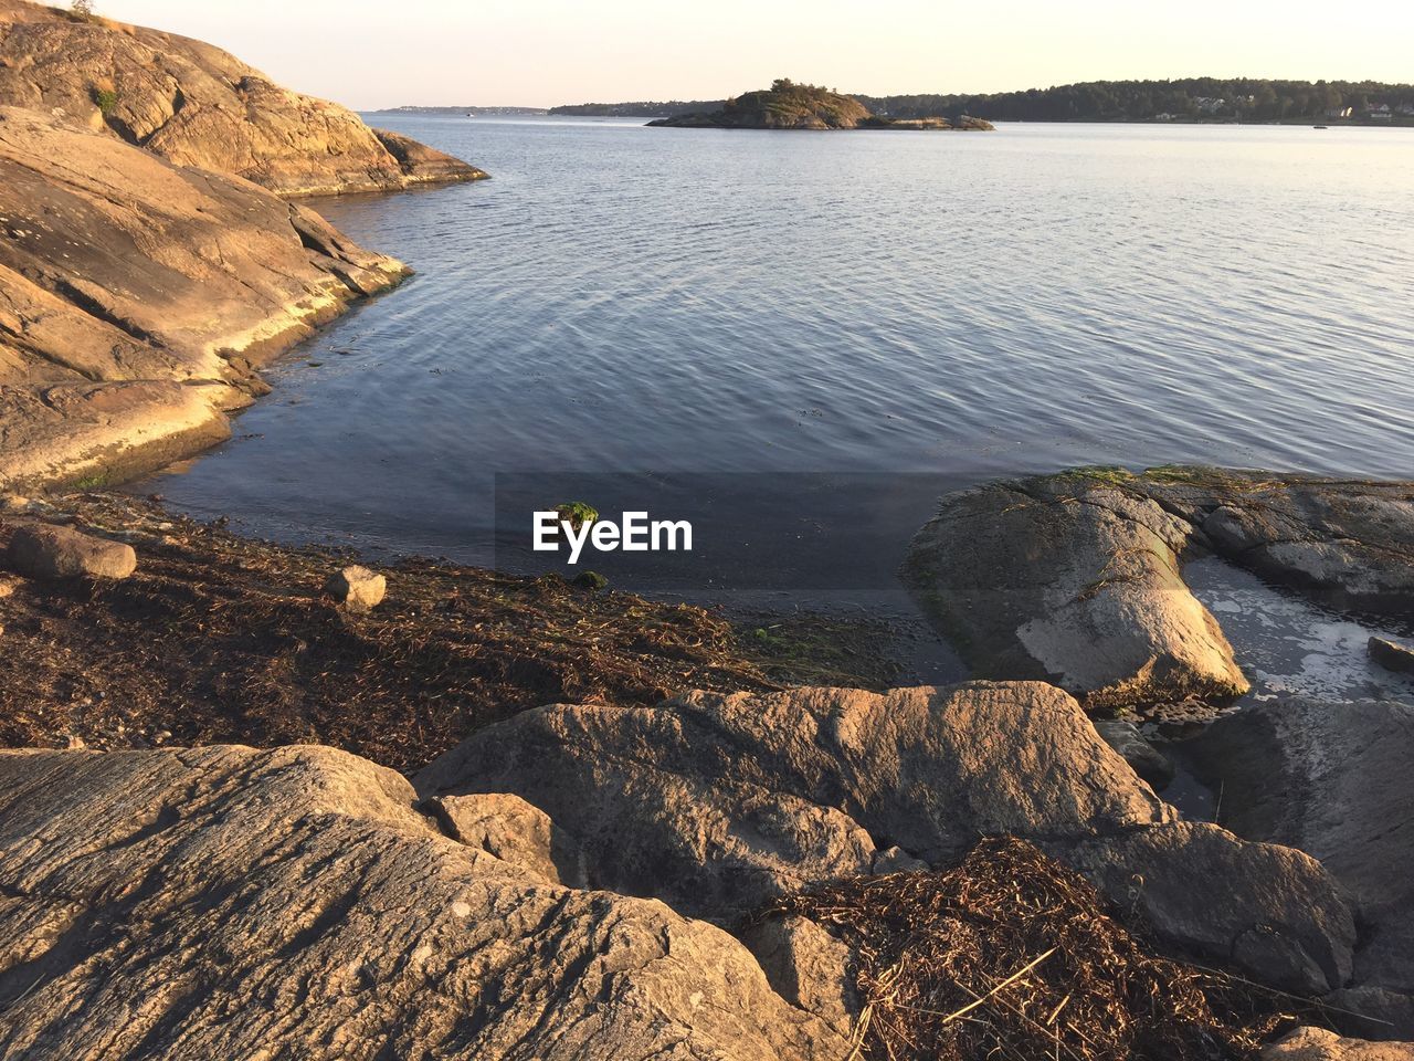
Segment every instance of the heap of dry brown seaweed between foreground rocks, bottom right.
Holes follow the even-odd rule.
[[[854,953],[855,1055],[870,1061],[1219,1061],[1314,1003],[1165,956],[1094,887],[1025,840],[954,869],[855,877],[789,895]]]

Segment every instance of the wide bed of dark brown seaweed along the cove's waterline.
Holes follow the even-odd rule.
[[[648,705],[687,689],[887,688],[882,632],[410,559],[366,615],[322,593],[348,552],[284,547],[123,494],[55,501],[126,538],[116,583],[18,583],[0,601],[0,746],[331,744],[411,771],[547,703]],[[0,547],[13,516],[0,519]],[[872,639],[872,641],[871,641]]]

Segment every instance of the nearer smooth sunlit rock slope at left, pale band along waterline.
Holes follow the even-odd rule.
[[[256,365],[406,272],[247,181],[0,108],[0,488],[225,439]]]

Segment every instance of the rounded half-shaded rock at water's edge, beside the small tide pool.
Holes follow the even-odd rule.
[[[1094,707],[1247,690],[1232,647],[1179,576],[1192,526],[1094,478],[943,498],[906,576],[981,678],[1052,680]]]

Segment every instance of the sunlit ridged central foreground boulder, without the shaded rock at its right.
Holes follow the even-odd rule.
[[[551,706],[469,737],[416,784],[516,792],[583,846],[592,884],[718,918],[870,873],[895,845],[946,863],[984,833],[1121,832],[1172,813],[1039,683]]]

